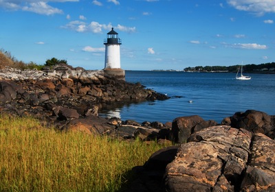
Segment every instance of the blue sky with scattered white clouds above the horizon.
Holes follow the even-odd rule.
[[[274,0],[0,0],[0,48],[17,60],[104,68],[104,38],[122,39],[122,69],[275,62]]]

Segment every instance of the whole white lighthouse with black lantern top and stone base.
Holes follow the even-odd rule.
[[[118,33],[111,28],[107,33],[107,39],[104,40],[105,45],[105,65],[104,73],[107,76],[125,79],[125,71],[120,68],[120,45],[121,39]]]

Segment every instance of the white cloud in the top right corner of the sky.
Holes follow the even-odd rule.
[[[274,0],[227,0],[236,10],[255,12],[263,15],[267,12],[275,12]]]

